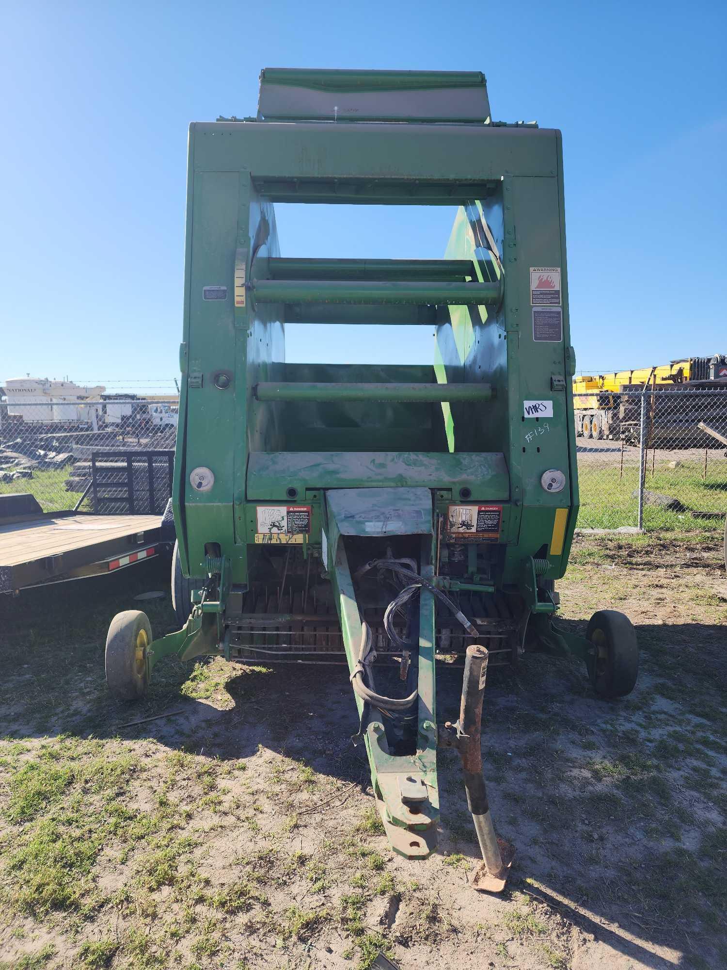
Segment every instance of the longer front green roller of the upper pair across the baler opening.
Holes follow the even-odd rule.
[[[502,296],[499,282],[368,282],[340,279],[296,280],[256,279],[250,284],[258,304],[334,303],[334,304],[498,304]],[[372,321],[375,322],[375,321]]]

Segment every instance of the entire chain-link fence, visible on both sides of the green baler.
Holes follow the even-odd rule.
[[[164,511],[176,399],[0,404],[0,494],[44,511]],[[579,526],[720,530],[727,510],[727,388],[649,386],[574,398]]]

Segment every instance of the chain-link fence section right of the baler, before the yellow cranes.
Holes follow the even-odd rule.
[[[574,411],[581,528],[723,528],[727,387],[577,394]]]

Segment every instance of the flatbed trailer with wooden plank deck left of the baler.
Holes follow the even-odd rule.
[[[0,594],[109,574],[166,544],[161,515],[44,512],[32,495],[0,496]]]

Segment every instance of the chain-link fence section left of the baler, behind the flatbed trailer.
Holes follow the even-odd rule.
[[[164,512],[172,494],[178,401],[0,403],[0,495],[45,512]]]

